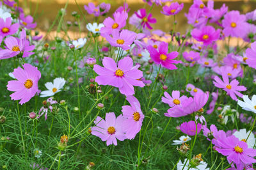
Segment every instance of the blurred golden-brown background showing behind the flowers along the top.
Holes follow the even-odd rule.
[[[150,9],[150,6],[148,6],[148,4],[145,5],[143,0],[69,0],[66,11],[67,14],[65,15],[63,22],[72,22],[72,26],[70,26],[68,31],[70,38],[79,37],[79,33],[77,33],[79,29],[77,26],[75,26],[76,24],[74,23],[77,20],[71,15],[71,13],[74,11],[81,14],[79,12],[79,8],[77,7],[77,5],[81,8],[81,11],[85,15],[86,20],[88,20],[88,22],[95,22],[95,17],[93,15],[88,15],[84,10],[84,4],[88,4],[90,2],[95,3],[95,5],[98,5],[102,2],[110,3],[111,9],[107,16],[112,16],[112,13],[115,12],[116,8],[122,5],[124,1],[127,2],[129,4],[129,8],[131,8],[131,11],[129,12],[129,17],[131,17],[134,11],[143,8],[144,6],[147,9],[147,11]],[[32,15],[35,17],[35,20],[37,22],[36,30],[42,32],[42,34],[44,35],[45,31],[47,31],[49,27],[51,27],[52,22],[54,21],[54,19],[56,19],[59,10],[65,7],[67,0],[19,0],[19,2],[19,5],[22,6],[22,8],[24,8],[24,12],[27,15]],[[178,30],[180,33],[185,33],[186,29],[188,28],[188,25],[184,13],[188,13],[189,6],[191,6],[193,0],[180,0],[178,2],[184,3],[184,9],[176,16],[177,27],[175,29]],[[204,3],[206,4],[207,1],[204,1]],[[256,0],[215,0],[214,8],[220,8],[223,3],[225,3],[228,6],[228,10],[239,10],[241,13],[250,12],[256,9]],[[154,8],[152,9],[152,15],[154,18],[157,19],[157,23],[152,24],[152,27],[154,29],[161,29],[162,31],[168,32],[172,29],[173,17],[167,17],[160,13],[160,11],[161,6],[154,6]],[[103,22],[105,18],[106,17],[101,16],[97,20],[99,20],[99,22]],[[84,21],[82,15],[79,21],[81,23],[81,31],[83,36],[86,34],[87,31],[85,27],[86,22]],[[57,26],[58,24],[52,27],[53,32],[54,30],[57,29]]]

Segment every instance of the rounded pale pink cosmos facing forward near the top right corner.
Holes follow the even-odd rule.
[[[222,20],[225,36],[236,36],[243,38],[245,35],[244,27],[246,27],[245,16],[240,15],[239,11],[231,11],[224,15]]]

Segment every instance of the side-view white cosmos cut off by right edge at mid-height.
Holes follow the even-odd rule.
[[[237,104],[242,107],[245,111],[252,111],[256,113],[256,95],[252,96],[252,100],[248,97],[248,95],[243,95],[243,101],[237,100]]]

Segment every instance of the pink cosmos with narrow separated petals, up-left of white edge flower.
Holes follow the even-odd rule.
[[[223,79],[223,81],[221,81],[220,77],[215,76],[214,82],[213,82],[214,86],[227,91],[227,95],[230,95],[230,97],[233,100],[237,101],[236,95],[239,97],[243,97],[243,94],[238,91],[246,91],[246,87],[238,86],[239,81],[237,81],[236,79],[229,82],[228,75],[226,73],[222,74],[222,79]]]

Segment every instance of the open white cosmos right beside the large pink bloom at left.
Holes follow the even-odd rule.
[[[48,90],[42,91],[40,93],[40,97],[52,97],[55,93],[61,91],[61,88],[63,88],[65,82],[65,79],[59,77],[53,80],[53,84],[52,82],[45,83],[45,87]]]

